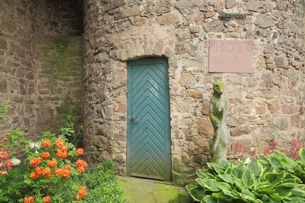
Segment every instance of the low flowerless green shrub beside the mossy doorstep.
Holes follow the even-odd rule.
[[[83,202],[90,203],[124,203],[128,197],[123,195],[123,186],[116,181],[112,159],[106,160],[97,167],[88,168],[78,176],[78,182],[86,185],[87,195]]]

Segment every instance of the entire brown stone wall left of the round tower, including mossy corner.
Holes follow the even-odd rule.
[[[1,133],[58,131],[81,120],[82,1],[0,0],[1,101],[14,107]]]

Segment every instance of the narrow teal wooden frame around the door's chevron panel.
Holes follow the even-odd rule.
[[[132,65],[145,65],[145,64],[156,64],[156,63],[163,63],[165,68],[165,101],[167,101],[168,104],[165,108],[165,181],[171,181],[172,180],[172,161],[171,161],[171,124],[170,124],[170,103],[169,103],[169,77],[168,77],[168,71],[169,71],[169,65],[168,65],[168,59],[167,58],[142,58],[137,60],[128,61],[127,66],[127,176],[131,176],[131,67]]]

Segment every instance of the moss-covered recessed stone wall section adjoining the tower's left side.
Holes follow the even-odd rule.
[[[66,117],[76,124],[82,123],[82,38],[57,37],[41,43],[41,66],[38,83],[38,120],[45,130],[58,132]]]

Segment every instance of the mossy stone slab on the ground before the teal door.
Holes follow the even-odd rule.
[[[119,183],[124,185],[124,194],[130,196],[130,203],[193,202],[184,188],[174,186],[169,182],[121,176],[116,178]]]

